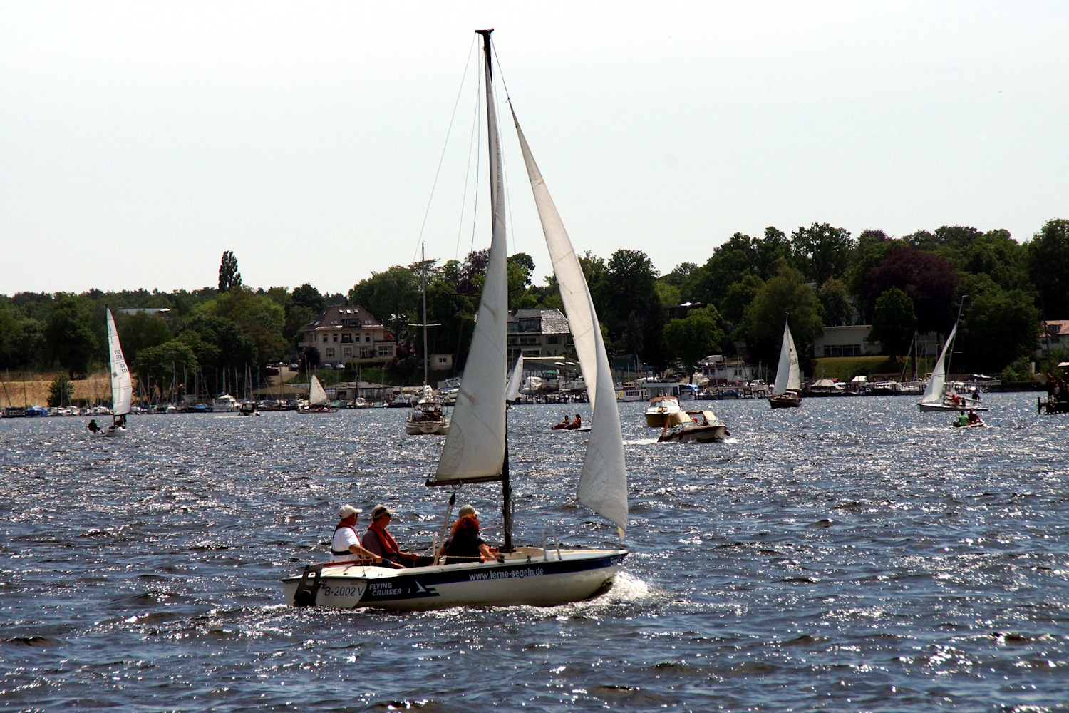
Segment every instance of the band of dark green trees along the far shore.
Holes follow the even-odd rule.
[[[0,295],[0,369],[62,369],[68,377],[106,360],[104,311],[117,327],[131,369],[146,383],[199,370],[244,373],[295,354],[301,327],[328,305],[360,305],[402,344],[399,378],[422,369],[422,284],[427,291],[428,350],[452,354],[463,367],[487,252],[439,264],[397,265],[357,282],[347,294],[323,294],[311,284],[251,289],[237,260],[223,253],[217,288],[172,293]],[[1069,220],[1048,221],[1020,244],[1008,231],[944,226],[892,237],[866,230],[856,237],[827,223],[790,235],[776,228],[758,237],[735,233],[703,263],[684,262],[661,275],[639,250],[607,259],[579,258],[616,356],[632,355],[656,369],[681,361],[693,368],[708,354],[737,354],[773,363],[784,320],[811,373],[811,344],[824,327],[871,324],[871,339],[902,355],[915,330],[946,335],[961,306],[956,368],[1000,372],[1023,369],[1035,351],[1041,320],[1069,319]],[[525,253],[509,258],[512,309],[560,308],[552,276],[533,281]],[[693,309],[673,310],[691,303]],[[166,308],[123,314],[119,309]],[[1066,355],[1069,356],[1069,355]]]

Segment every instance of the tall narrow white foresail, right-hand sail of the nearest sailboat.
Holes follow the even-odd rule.
[[[568,316],[568,326],[593,410],[587,454],[579,476],[578,498],[585,506],[615,523],[622,538],[628,528],[628,471],[623,461],[623,434],[616,404],[616,387],[598,325],[598,314],[583,267],[527,145],[527,139],[520,128],[514,110],[512,121],[516,125],[520,149],[534,191],[534,204],[538,206],[545,243],[553,259],[553,272],[560,286],[564,314]]]

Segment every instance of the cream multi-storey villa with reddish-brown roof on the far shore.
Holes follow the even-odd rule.
[[[397,338],[362,307],[331,306],[300,330],[297,346],[314,346],[320,362],[382,363],[397,356]]]

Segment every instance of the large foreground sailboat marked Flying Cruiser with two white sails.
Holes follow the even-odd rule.
[[[406,570],[358,562],[309,564],[301,574],[283,579],[285,599],[296,605],[394,610],[460,605],[552,606],[588,599],[603,590],[628,555],[622,548],[628,525],[628,477],[613,373],[583,269],[520,130],[515,111],[512,119],[593,410],[593,424],[579,475],[578,500],[616,525],[620,544],[608,549],[514,547],[512,544],[503,378],[508,366],[505,201],[491,71],[492,30],[478,32],[483,37],[490,141],[493,217],[490,261],[452,427],[437,468],[425,484],[451,487],[455,496],[455,490],[466,483],[500,482],[503,545],[496,560],[461,564],[434,563]],[[452,500],[453,497],[450,503]]]

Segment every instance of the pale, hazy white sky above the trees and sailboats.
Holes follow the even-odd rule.
[[[482,28],[579,253],[664,274],[815,222],[1024,243],[1069,218],[1067,27],[1060,1],[0,0],[0,294],[216,286],[224,250],[247,285],[343,293],[486,247]]]

